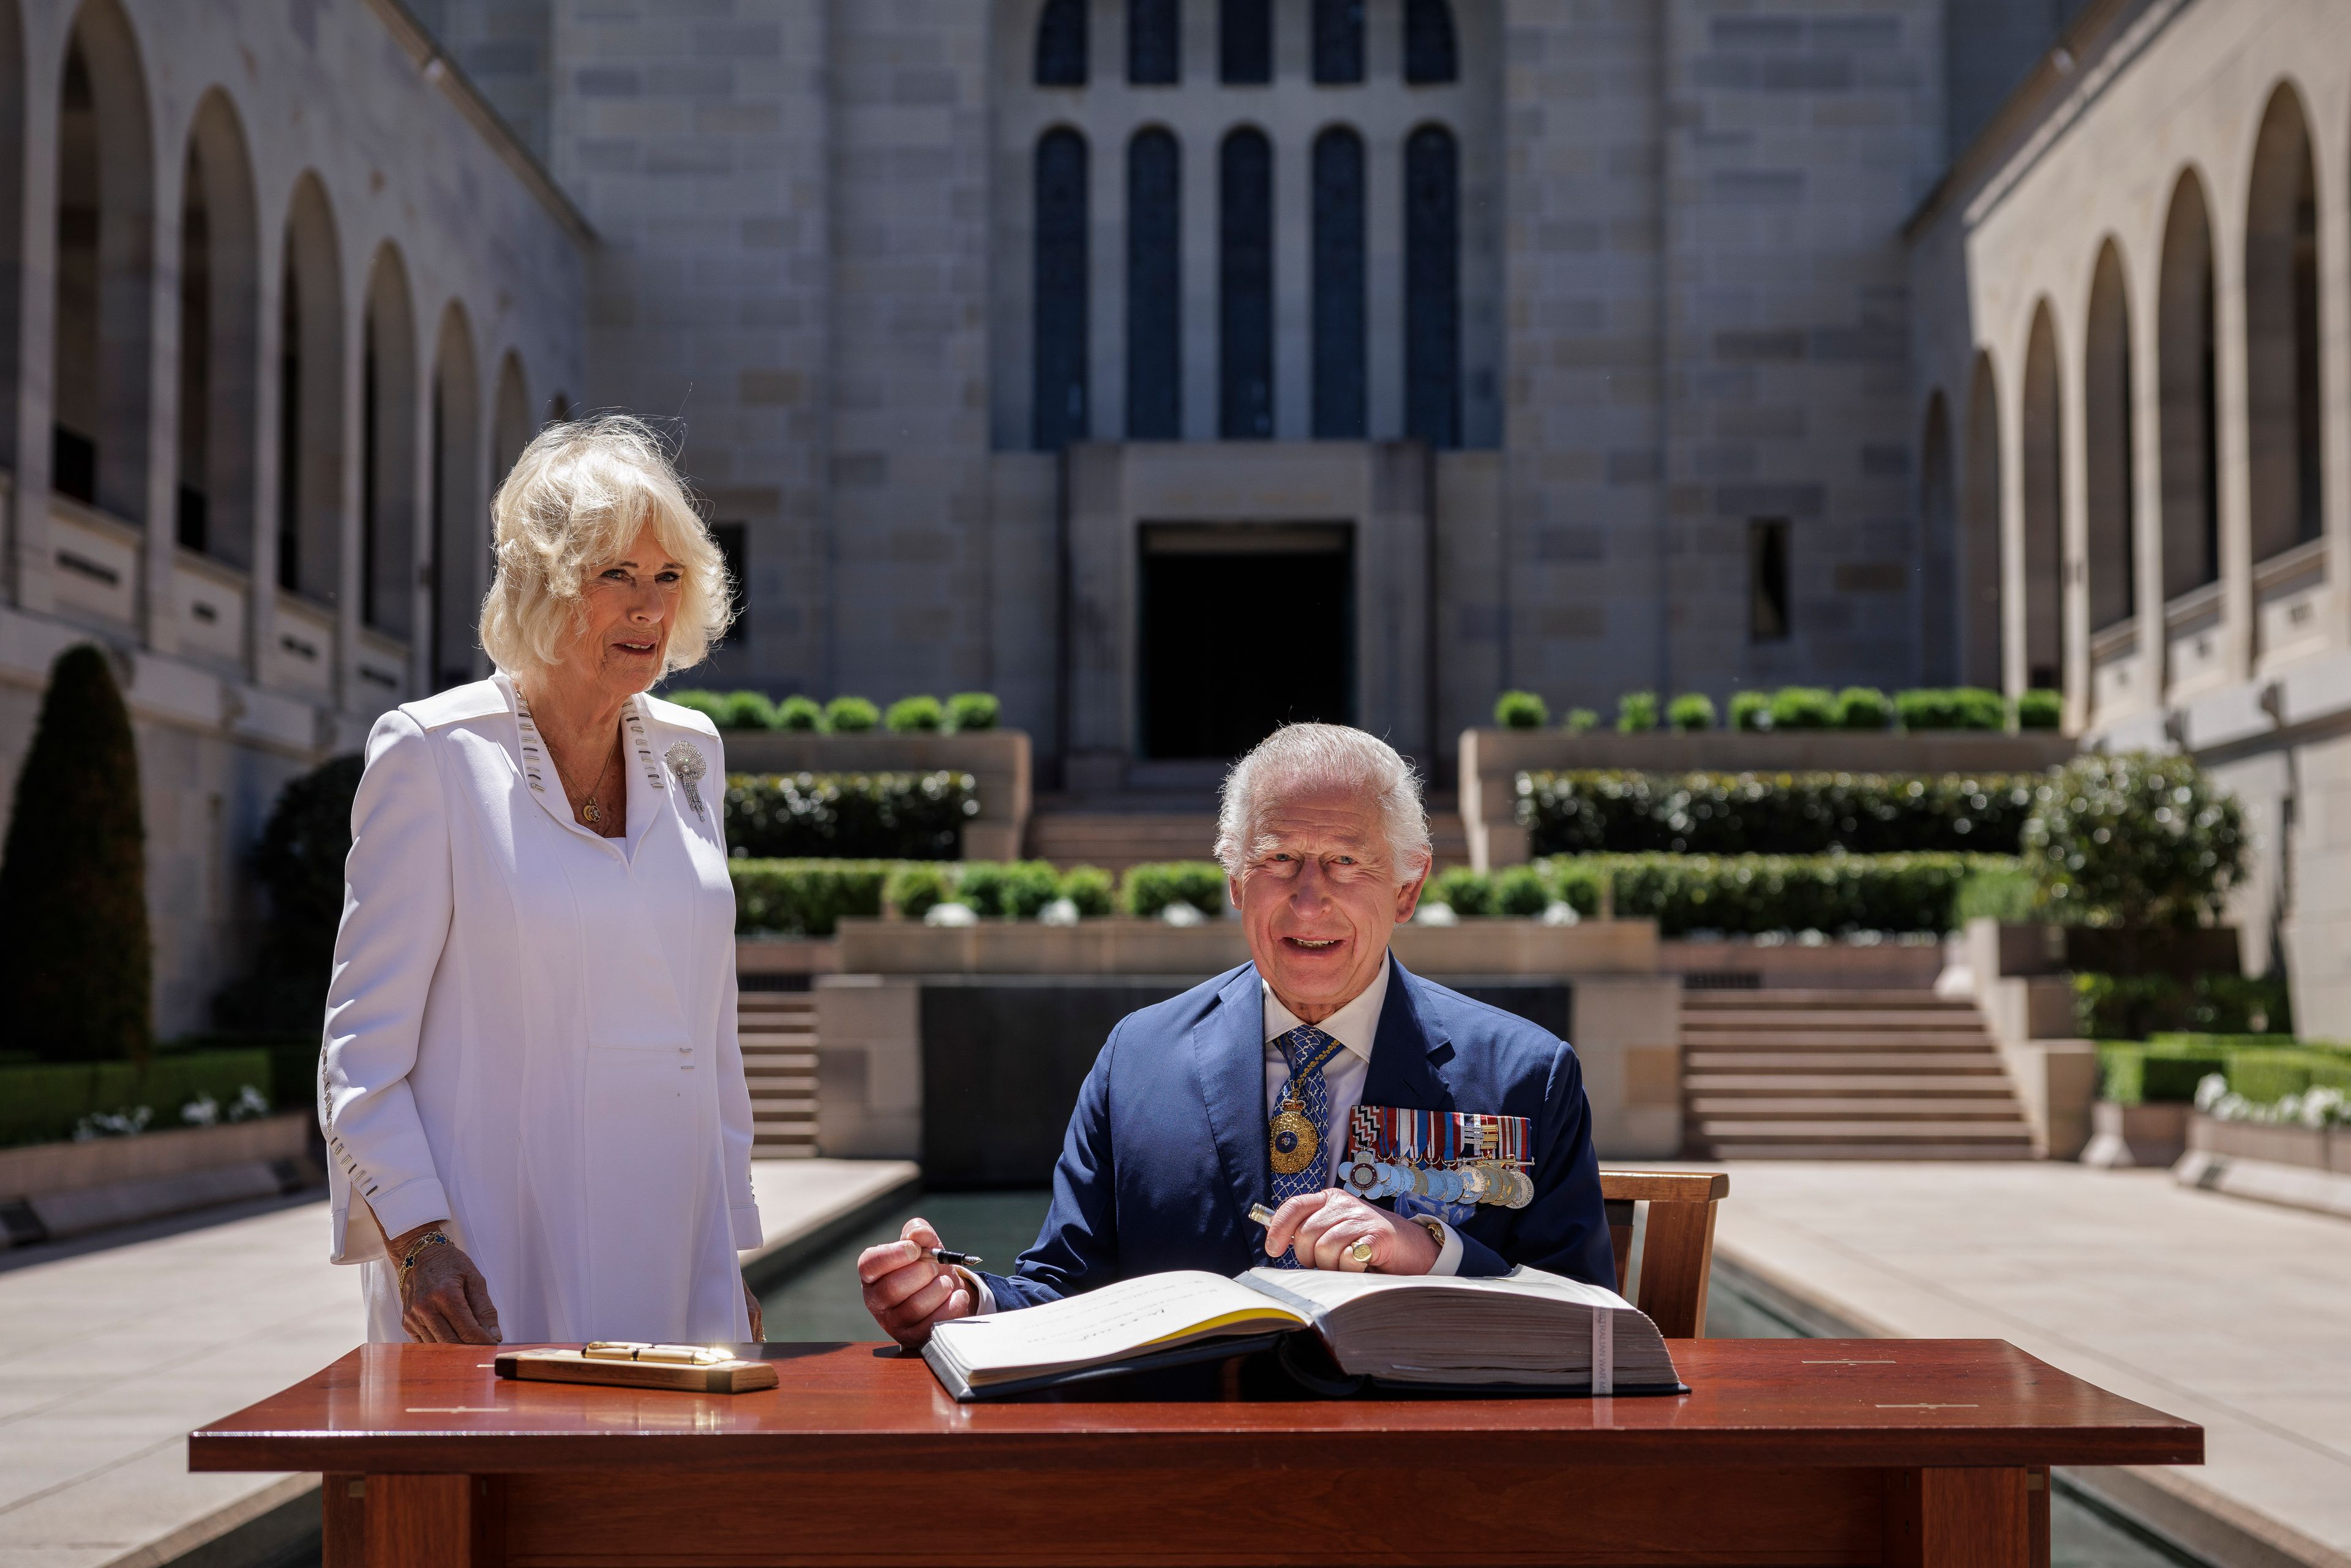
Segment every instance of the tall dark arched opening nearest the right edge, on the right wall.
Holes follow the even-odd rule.
[[[2323,531],[2318,174],[2302,94],[2269,94],[2245,195],[2245,435],[2252,559]]]

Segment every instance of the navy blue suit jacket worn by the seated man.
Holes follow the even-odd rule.
[[[1615,1286],[1592,1110],[1575,1051],[1549,1032],[1408,973],[1389,957],[1364,1105],[1526,1117],[1535,1197],[1479,1204],[1455,1229],[1462,1274],[1516,1262]],[[1340,1133],[1345,1135],[1345,1133]],[[1131,1013],[1077,1091],[1053,1211],[999,1307],[1032,1307],[1131,1274],[1267,1262],[1248,1206],[1267,1201],[1265,1004],[1255,964]]]

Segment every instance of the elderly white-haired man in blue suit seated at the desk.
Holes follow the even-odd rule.
[[[1053,1211],[1011,1274],[938,1265],[926,1220],[858,1258],[900,1345],[973,1312],[1161,1269],[1251,1265],[1502,1274],[1615,1286],[1592,1112],[1549,1032],[1406,971],[1387,952],[1429,875],[1420,780],[1385,741],[1291,724],[1234,764],[1215,858],[1251,961],[1110,1032],[1053,1168]],[[1521,1119],[1519,1206],[1375,1201],[1338,1180],[1357,1107]],[[1394,1124],[1396,1119],[1389,1119]],[[1411,1121],[1406,1117],[1406,1121]],[[1354,1171],[1354,1161],[1347,1161]],[[1460,1194],[1453,1194],[1455,1199]],[[1253,1204],[1274,1206],[1267,1227]]]

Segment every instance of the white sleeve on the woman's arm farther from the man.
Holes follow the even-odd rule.
[[[374,1237],[350,1225],[364,1199],[386,1237],[449,1218],[409,1070],[426,992],[449,940],[449,823],[430,736],[397,708],[367,736],[350,804],[343,924],[327,985],[320,1124],[341,1178],[334,1260],[364,1262]],[[357,1232],[357,1234],[353,1234]],[[357,1251],[355,1244],[364,1244]]]

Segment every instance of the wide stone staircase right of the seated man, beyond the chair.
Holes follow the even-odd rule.
[[[2031,1159],[1972,1001],[1928,990],[1690,990],[1697,1159]]]

